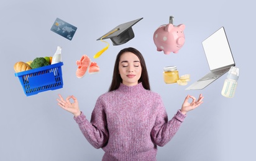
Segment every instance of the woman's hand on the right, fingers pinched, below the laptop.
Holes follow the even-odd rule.
[[[192,98],[192,102],[188,102],[188,100]],[[199,105],[201,105],[203,103],[203,95],[200,94],[198,100],[196,100],[195,97],[193,97],[192,95],[187,95],[182,107],[181,107],[181,113],[186,114],[188,111],[194,110],[194,108],[199,107]]]

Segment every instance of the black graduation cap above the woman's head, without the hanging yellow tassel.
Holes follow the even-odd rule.
[[[143,19],[143,17],[137,20],[132,20],[130,22],[118,25],[117,27],[113,28],[110,32],[98,38],[97,40],[110,38],[113,45],[122,45],[124,43],[127,43],[129,40],[134,38],[132,26],[139,22],[141,19]]]

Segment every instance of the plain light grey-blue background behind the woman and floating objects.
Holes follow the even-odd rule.
[[[99,95],[109,88],[116,54],[132,46],[144,54],[152,90],[162,95],[169,119],[187,94],[204,95],[204,103],[190,111],[180,131],[158,148],[158,160],[254,160],[255,154],[255,6],[253,1],[9,1],[0,2],[1,112],[0,160],[101,160],[83,137],[73,116],[57,106],[57,94],[75,95],[88,119]],[[178,54],[158,52],[153,32],[168,24],[185,24],[185,45]],[[78,27],[73,40],[50,31],[56,18]],[[135,38],[106,46],[97,38],[130,20]],[[163,82],[163,67],[175,65],[192,82],[209,71],[201,41],[218,28],[226,28],[239,84],[234,98],[221,95],[225,76],[203,90]],[[111,43],[110,40],[107,40]],[[39,56],[52,56],[62,46],[63,89],[26,97],[13,65]],[[75,61],[87,54],[101,71],[75,76]]]

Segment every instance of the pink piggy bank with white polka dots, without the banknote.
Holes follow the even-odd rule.
[[[158,27],[153,34],[153,41],[157,46],[157,51],[163,51],[164,54],[178,53],[185,43],[184,29],[184,24],[178,26],[167,24]]]

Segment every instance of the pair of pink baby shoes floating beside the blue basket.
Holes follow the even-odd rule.
[[[80,61],[76,61],[76,65],[78,66],[78,69],[76,69],[76,77],[78,78],[85,76],[88,68],[89,74],[99,72],[98,64],[96,62],[92,62],[86,54],[81,57]]]

